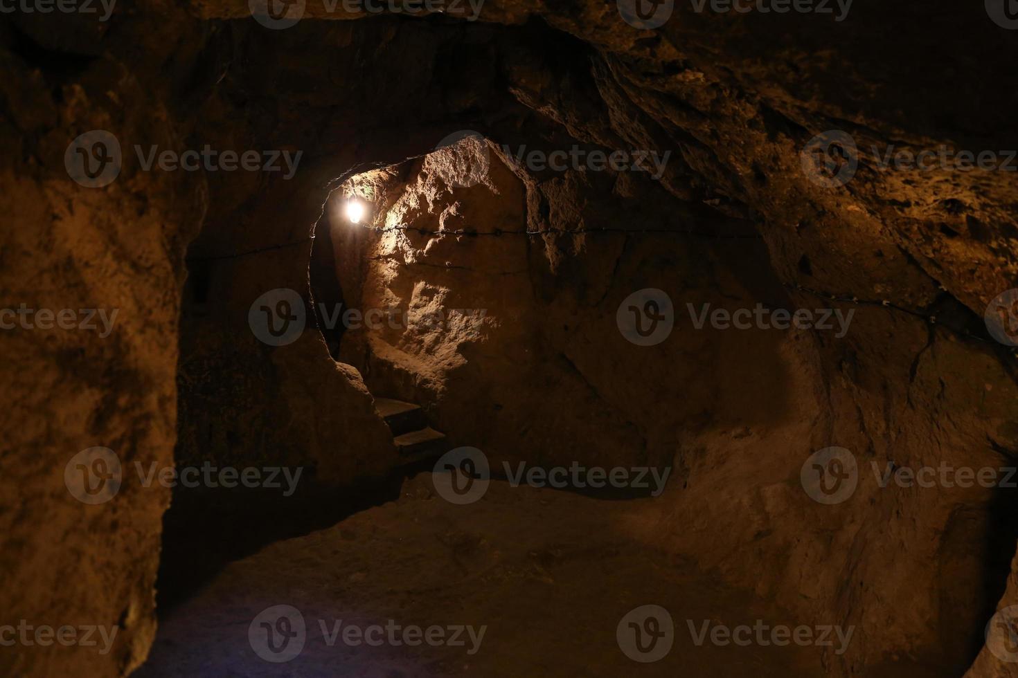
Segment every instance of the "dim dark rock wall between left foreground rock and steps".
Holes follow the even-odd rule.
[[[360,375],[332,361],[314,324],[307,262],[323,196],[314,181],[279,179],[248,210],[207,222],[191,246],[191,272],[202,273],[181,321],[179,463],[286,465],[336,485],[395,466]],[[280,300],[299,313],[290,326]]]

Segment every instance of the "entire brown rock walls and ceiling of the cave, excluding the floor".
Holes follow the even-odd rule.
[[[896,656],[957,675],[998,600],[1018,603],[1006,488],[884,480],[892,463],[1000,468],[1018,449],[1013,353],[981,319],[1015,286],[1014,174],[886,167],[892,146],[1006,151],[1016,137],[1013,36],[978,6],[860,6],[837,23],[676,8],[657,34],[598,3],[503,3],[470,24],[309,11],[276,32],[245,3],[193,9],[204,18],[146,3],[96,34],[59,15],[2,27],[3,289],[15,306],[119,314],[107,337],[0,333],[18,357],[0,368],[0,610],[122,628],[105,655],[20,648],[0,668],[119,675],[151,642],[169,491],[125,483],[82,503],[63,482],[76,452],[109,447],[133,474],[134,461],[169,465],[176,445],[182,460],[286,461],[357,484],[398,463],[369,387],[409,389],[450,437],[496,459],[671,459],[637,537],[803,619],[855,624],[830,675],[895,675]],[[889,35],[903,22],[922,29]],[[954,44],[970,47],[943,49]],[[259,342],[260,295],[312,300],[309,237],[330,190],[466,127],[495,144],[487,172],[471,166],[483,181],[446,190],[455,177],[429,166],[440,160],[400,166],[386,213],[427,233],[352,249],[340,233],[333,264],[358,303],[485,317],[343,336],[340,356],[366,383],[314,328],[286,347]],[[94,129],[124,157],[105,188],[73,183],[64,165]],[[848,174],[811,143],[832,130],[857,149]],[[834,137],[848,145],[818,142]],[[302,157],[291,179],[144,168],[154,144],[205,143]],[[552,160],[573,144],[647,151],[639,163],[656,171],[632,171],[635,156],[618,161],[629,170],[589,157],[568,161],[583,171],[508,169],[509,156]],[[649,151],[666,150],[654,178]],[[641,227],[654,233],[612,231]],[[558,230],[590,233],[518,235]],[[649,288],[669,294],[677,325],[640,347],[617,312]],[[841,336],[695,328],[705,304],[757,302],[855,312]],[[800,483],[829,446],[859,470],[837,504]],[[983,651],[970,675],[1014,666]]]

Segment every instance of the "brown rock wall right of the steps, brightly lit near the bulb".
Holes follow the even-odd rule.
[[[885,475],[1009,463],[1016,391],[993,346],[900,308],[789,294],[752,225],[675,199],[641,211],[645,178],[542,178],[495,144],[479,152],[437,151],[342,187],[343,199],[374,197],[375,213],[337,218],[347,261],[335,273],[349,307],[385,319],[348,329],[341,357],[373,389],[425,404],[496,475],[520,461],[671,468],[658,512],[633,531],[793,601],[801,619],[855,625],[829,675],[895,675],[905,661],[964,672],[1004,592],[1015,498]],[[473,184],[464,170],[478,164],[490,170]],[[617,322],[644,288],[666,291],[676,319],[648,347]],[[823,330],[696,327],[704,309],[757,304],[838,315]],[[859,468],[838,505],[800,481],[831,445]]]

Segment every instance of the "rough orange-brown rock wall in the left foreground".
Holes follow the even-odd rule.
[[[169,12],[165,32],[179,20]],[[68,146],[80,134],[107,130],[129,152],[134,140],[170,143],[180,129],[165,88],[145,82],[147,64],[126,64],[98,45],[101,35],[84,39],[72,25],[16,22],[4,19],[0,56],[0,296],[26,312],[11,324],[5,314],[0,331],[0,610],[5,624],[27,626],[17,632],[31,644],[4,648],[0,672],[123,675],[155,635],[169,491],[135,471],[173,464],[183,251],[207,194],[201,177],[130,164],[108,165],[104,187],[80,172],[82,183],[72,181]],[[95,447],[108,451],[83,452]],[[117,467],[119,487],[103,479]],[[39,627],[53,630],[39,636]],[[56,631],[70,633],[63,627],[95,645],[57,642]]]

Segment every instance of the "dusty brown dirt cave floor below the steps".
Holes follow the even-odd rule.
[[[795,621],[628,536],[645,501],[493,481],[476,503],[454,505],[420,474],[397,501],[228,564],[168,613],[135,675],[824,675],[813,646],[697,645],[687,620],[697,629],[708,619]],[[649,604],[671,613],[675,642],[664,659],[637,663],[620,650],[616,627]],[[251,621],[276,605],[298,609],[307,629],[302,652],[286,663],[260,659],[248,641]],[[354,646],[342,631],[332,635],[338,620],[487,629],[473,654],[466,632],[462,646]]]

